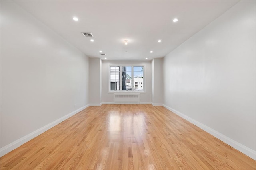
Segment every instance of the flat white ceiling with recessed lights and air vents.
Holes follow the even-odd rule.
[[[237,2],[16,1],[88,57],[101,57],[101,50],[107,60],[164,57]],[[94,42],[81,32],[91,32]]]

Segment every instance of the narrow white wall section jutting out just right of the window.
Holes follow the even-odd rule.
[[[162,58],[152,60],[152,104],[162,105]]]

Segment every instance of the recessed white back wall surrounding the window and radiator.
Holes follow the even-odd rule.
[[[151,61],[102,61],[102,103],[113,103],[114,97],[113,93],[109,93],[108,88],[108,78],[109,78],[109,66],[110,65],[118,65],[118,64],[141,64],[144,65],[144,88],[145,93],[140,93],[140,102],[142,104],[150,104],[151,103]]]

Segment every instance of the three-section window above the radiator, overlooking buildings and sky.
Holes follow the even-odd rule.
[[[144,66],[110,66],[110,91],[144,91]]]

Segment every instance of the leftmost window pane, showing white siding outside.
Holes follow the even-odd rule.
[[[119,90],[120,89],[120,67],[111,66],[110,67],[110,90]]]

